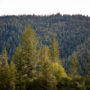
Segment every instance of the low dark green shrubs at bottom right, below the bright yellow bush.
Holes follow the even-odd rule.
[[[87,90],[85,89],[84,78],[68,79],[62,78],[57,84],[58,90]]]

